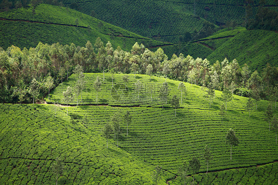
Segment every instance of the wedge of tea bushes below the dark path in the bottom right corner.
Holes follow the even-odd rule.
[[[278,184],[278,163],[211,172],[208,174],[195,175],[195,181],[199,185],[276,185]],[[179,185],[184,179],[178,177],[170,181],[169,185]],[[187,184],[192,178],[186,178]]]

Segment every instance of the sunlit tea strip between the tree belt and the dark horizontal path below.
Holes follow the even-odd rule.
[[[165,82],[165,78],[151,76],[149,80],[148,75],[133,75],[128,74],[129,82],[125,84],[123,81],[123,74],[114,74],[113,88],[111,74],[106,74],[103,82],[103,74],[101,73],[84,73],[85,74],[85,89],[82,92],[81,104],[109,104],[118,106],[165,106],[166,101],[161,101],[159,98],[159,91],[162,84]],[[99,76],[102,82],[102,91],[98,92],[98,102],[96,102],[96,91],[93,88],[93,83],[96,77]],[[135,78],[134,78],[135,77]],[[136,87],[136,83],[140,82],[139,91]],[[185,108],[201,108],[209,110],[219,110],[223,104],[221,98],[222,92],[215,91],[215,97],[211,106],[209,105],[209,99],[206,97],[206,90],[189,83],[185,83],[186,95],[183,93],[183,103],[181,103],[181,91],[178,89],[180,81],[167,79],[169,85],[169,95],[167,100],[167,106],[171,106],[171,99],[173,95],[177,95],[180,98],[180,106]],[[60,84],[54,91],[50,93],[50,99],[45,98],[46,102],[63,103],[63,92],[66,91],[68,86],[74,88],[76,84],[76,75],[73,74],[69,77],[68,81]],[[127,89],[126,86],[127,85]],[[138,98],[139,97],[139,98]],[[233,96],[234,99],[227,103],[228,110],[245,110],[245,105],[248,98],[238,95]],[[81,96],[79,96],[79,101]],[[258,102],[257,108],[260,111],[265,110],[267,107],[267,101],[261,100]],[[74,98],[70,103],[72,105],[77,104],[77,98]],[[80,103],[79,103],[80,104]],[[255,108],[254,108],[255,109]]]

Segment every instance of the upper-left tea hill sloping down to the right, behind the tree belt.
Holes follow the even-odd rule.
[[[0,13],[0,38],[5,38],[0,40],[1,47],[6,49],[15,45],[23,49],[35,47],[39,42],[85,46],[87,41],[93,43],[97,37],[124,50],[130,49],[136,42],[145,46],[162,45],[162,42],[139,36],[70,8],[40,4],[34,11],[35,14],[33,7],[28,7]]]

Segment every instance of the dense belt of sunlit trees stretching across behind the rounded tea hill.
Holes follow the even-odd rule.
[[[262,77],[257,71],[251,73],[247,64],[241,68],[234,59],[226,58],[213,65],[207,59],[192,58],[184,54],[173,54],[168,59],[162,48],[150,51],[136,43],[130,52],[120,47],[114,50],[108,41],[104,46],[100,38],[94,47],[90,41],[85,47],[74,44],[62,46],[59,43],[44,45],[39,43],[29,50],[10,46],[0,48],[0,101],[17,102],[19,94],[27,92],[25,102],[32,100],[29,88],[33,79],[43,84],[47,76],[53,78],[54,86],[68,78],[75,66],[83,67],[84,72],[134,73],[169,77],[215,90],[229,89],[232,93],[258,98],[277,98],[278,68],[267,67]],[[50,75],[49,75],[50,74]],[[276,88],[276,89],[275,89]],[[47,88],[40,86],[40,97],[46,95]],[[14,93],[19,92],[19,93]],[[28,95],[29,94],[29,95]],[[273,98],[273,94],[276,97]],[[272,97],[272,98],[271,98]]]

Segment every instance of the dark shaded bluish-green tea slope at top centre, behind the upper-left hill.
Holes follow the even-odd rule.
[[[194,16],[190,11],[179,11],[172,2],[157,0],[63,0],[64,4],[77,2],[79,11],[119,26],[144,37],[174,35],[163,39],[177,42],[179,34],[192,33],[202,28],[203,18]]]

